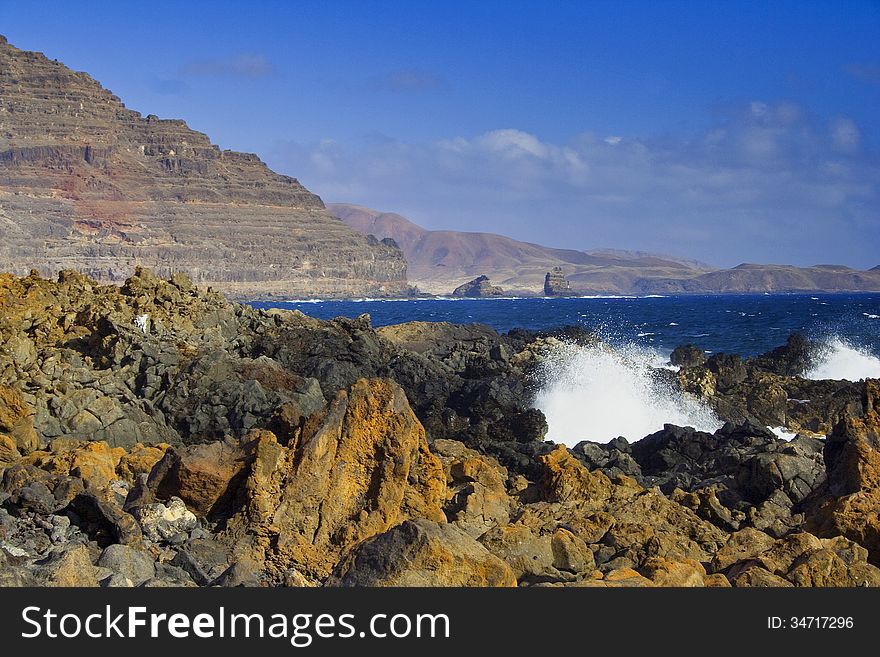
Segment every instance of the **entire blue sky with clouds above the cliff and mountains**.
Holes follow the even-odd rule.
[[[880,264],[880,0],[0,0],[0,34],[328,203]]]

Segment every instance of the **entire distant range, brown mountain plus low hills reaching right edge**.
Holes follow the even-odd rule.
[[[859,271],[742,264],[716,270],[642,251],[552,249],[493,233],[425,230],[399,214],[346,203],[327,209],[357,231],[394,239],[406,256],[410,283],[434,294],[449,294],[480,275],[508,294],[542,294],[544,276],[554,267],[562,269],[572,294],[880,291],[880,266]]]

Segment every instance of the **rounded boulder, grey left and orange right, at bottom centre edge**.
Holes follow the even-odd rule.
[[[407,520],[361,543],[329,586],[516,586],[513,572],[451,524]]]

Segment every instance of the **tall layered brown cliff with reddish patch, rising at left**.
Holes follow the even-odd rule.
[[[0,271],[135,265],[238,297],[399,295],[399,249],[356,233],[297,180],[141,116],[85,73],[0,37]]]

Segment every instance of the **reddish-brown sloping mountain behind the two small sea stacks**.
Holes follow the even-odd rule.
[[[710,270],[653,254],[554,249],[494,233],[425,230],[399,214],[346,203],[328,203],[327,210],[355,230],[394,239],[406,256],[409,282],[433,294],[449,294],[481,275],[508,294],[540,294],[553,267],[562,267],[581,294],[624,294],[644,278],[685,279]]]

